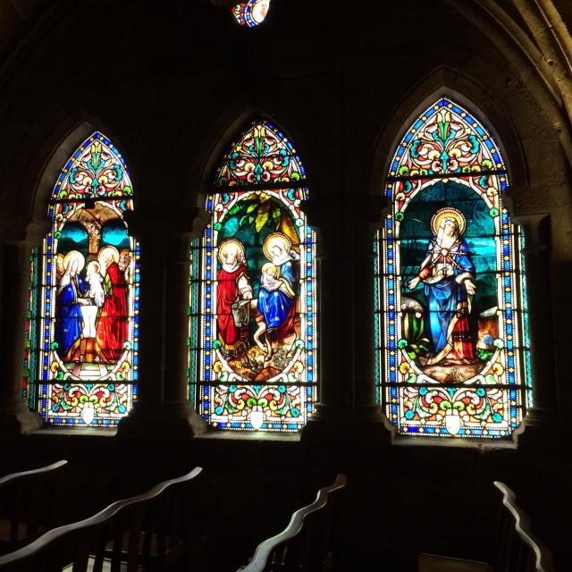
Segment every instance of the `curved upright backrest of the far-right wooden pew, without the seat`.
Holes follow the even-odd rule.
[[[529,518],[517,507],[515,493],[500,481],[494,481],[494,486],[501,492],[495,569],[552,572],[551,552],[534,538]]]

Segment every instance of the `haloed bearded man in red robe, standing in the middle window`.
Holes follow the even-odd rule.
[[[252,299],[244,246],[240,240],[228,239],[218,251],[222,268],[216,274],[216,329],[224,356],[237,356],[248,349],[248,321],[237,325],[232,304]]]

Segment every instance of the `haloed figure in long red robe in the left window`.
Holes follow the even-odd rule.
[[[105,301],[101,307],[96,331],[96,351],[103,363],[115,364],[122,357],[123,344],[129,337],[127,314],[127,282],[119,267],[119,253],[114,247],[99,253],[105,272]]]

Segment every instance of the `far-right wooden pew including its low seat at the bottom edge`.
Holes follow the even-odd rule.
[[[487,562],[420,554],[418,572],[553,572],[550,551],[535,539],[515,493],[495,481],[500,494],[494,545]]]

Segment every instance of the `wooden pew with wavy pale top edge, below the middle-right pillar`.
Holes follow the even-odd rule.
[[[339,474],[333,484],[321,488],[314,502],[292,514],[290,524],[282,533],[258,544],[254,556],[240,571],[317,572],[331,569],[333,506],[346,480],[346,475]]]

